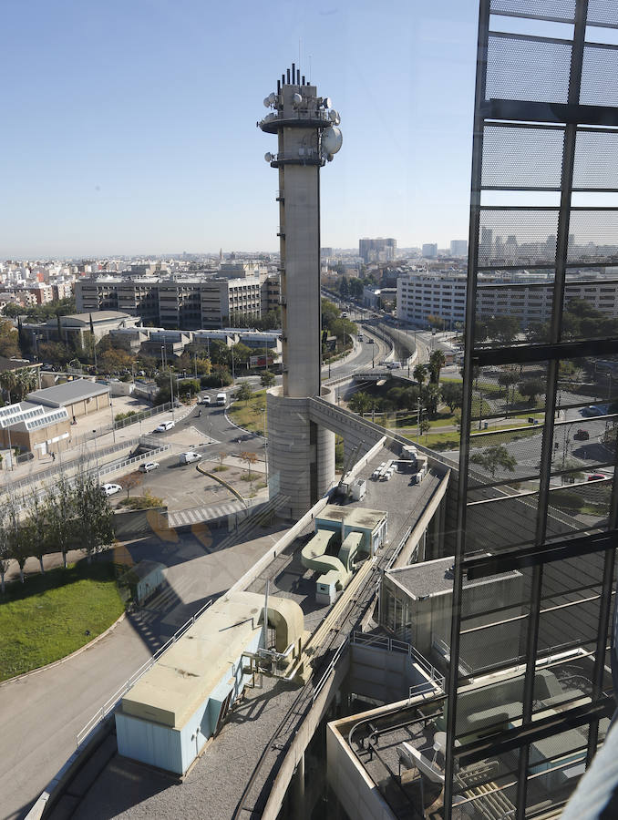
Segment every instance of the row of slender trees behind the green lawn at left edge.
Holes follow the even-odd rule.
[[[18,497],[9,489],[0,504],[0,584],[5,591],[5,574],[14,559],[24,583],[24,566],[29,558],[39,560],[45,571],[44,556],[60,552],[65,568],[69,549],[82,549],[88,561],[112,543],[112,510],[101,491],[98,477],[82,466],[69,481],[64,475],[46,487],[44,494],[33,489]]]

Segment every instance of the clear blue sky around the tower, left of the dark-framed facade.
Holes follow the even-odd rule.
[[[4,0],[0,258],[277,250],[294,60],[341,113],[322,243],[468,237],[476,0]]]

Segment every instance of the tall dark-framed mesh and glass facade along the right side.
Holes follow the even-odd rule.
[[[480,3],[445,816],[560,807],[614,709],[616,26]]]

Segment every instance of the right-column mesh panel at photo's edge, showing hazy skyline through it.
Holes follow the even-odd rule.
[[[618,264],[618,210],[572,209],[567,261]]]

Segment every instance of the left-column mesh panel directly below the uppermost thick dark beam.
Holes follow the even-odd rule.
[[[482,184],[498,188],[560,187],[563,138],[561,129],[486,126]]]

